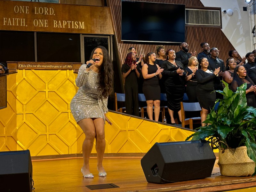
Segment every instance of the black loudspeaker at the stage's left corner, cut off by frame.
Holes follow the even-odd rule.
[[[29,150],[0,152],[0,191],[32,190],[32,162]]]

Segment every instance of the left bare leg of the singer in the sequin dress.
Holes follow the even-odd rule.
[[[89,158],[92,152],[93,141],[95,138],[95,127],[92,119],[90,118],[82,119],[77,124],[81,127],[81,129],[85,134],[85,139],[82,146],[83,158],[84,158],[83,174],[87,175],[87,174],[90,174]]]

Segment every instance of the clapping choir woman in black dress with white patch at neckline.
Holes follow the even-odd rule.
[[[208,69],[209,62],[207,58],[201,59],[201,68],[196,70],[197,86],[196,86],[196,97],[202,108],[201,122],[202,126],[206,120],[209,110],[213,108],[216,100],[216,93],[214,91],[214,83],[219,83],[220,78],[218,73],[220,67],[216,68],[214,72]]]

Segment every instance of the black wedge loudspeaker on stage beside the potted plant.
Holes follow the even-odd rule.
[[[206,141],[155,143],[140,163],[150,183],[210,177],[216,157]]]

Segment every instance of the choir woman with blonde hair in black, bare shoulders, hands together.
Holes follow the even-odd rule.
[[[196,70],[198,69],[198,60],[196,57],[192,56],[188,59],[188,67],[185,70],[188,72],[186,77],[186,93],[188,95],[189,102],[198,102],[196,98]]]

